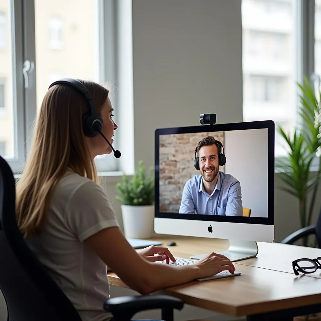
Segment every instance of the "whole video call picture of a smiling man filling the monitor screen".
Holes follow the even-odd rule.
[[[161,134],[159,212],[268,217],[268,129]]]

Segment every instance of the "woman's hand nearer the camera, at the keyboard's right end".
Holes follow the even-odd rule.
[[[224,270],[228,270],[230,273],[235,271],[235,267],[230,259],[214,252],[197,261],[195,265],[200,269],[200,278],[212,276]]]

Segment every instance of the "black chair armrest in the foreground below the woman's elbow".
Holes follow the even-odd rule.
[[[130,321],[135,313],[161,309],[162,320],[173,321],[173,309],[181,310],[182,300],[168,295],[124,296],[108,299],[104,302],[104,309],[111,312],[115,321]]]

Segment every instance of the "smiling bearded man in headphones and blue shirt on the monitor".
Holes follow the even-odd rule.
[[[242,216],[240,182],[219,171],[225,162],[224,147],[213,136],[197,144],[194,166],[201,174],[186,182],[178,213]]]

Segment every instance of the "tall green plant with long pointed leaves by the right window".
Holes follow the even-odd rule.
[[[308,79],[304,77],[302,86],[298,83],[302,94],[299,95],[301,106],[299,114],[302,117],[301,126],[297,126],[292,137],[286,134],[281,126],[277,127],[288,147],[284,159],[276,160],[280,169],[280,178],[287,185],[282,190],[294,195],[299,200],[299,215],[301,228],[311,225],[313,208],[317,189],[321,178],[321,91],[317,96]],[[312,161],[319,155],[317,172],[311,173]],[[311,197],[309,194],[311,194]],[[309,201],[310,200],[310,201]],[[308,246],[304,238],[303,246]],[[316,244],[316,243],[315,243]]]

